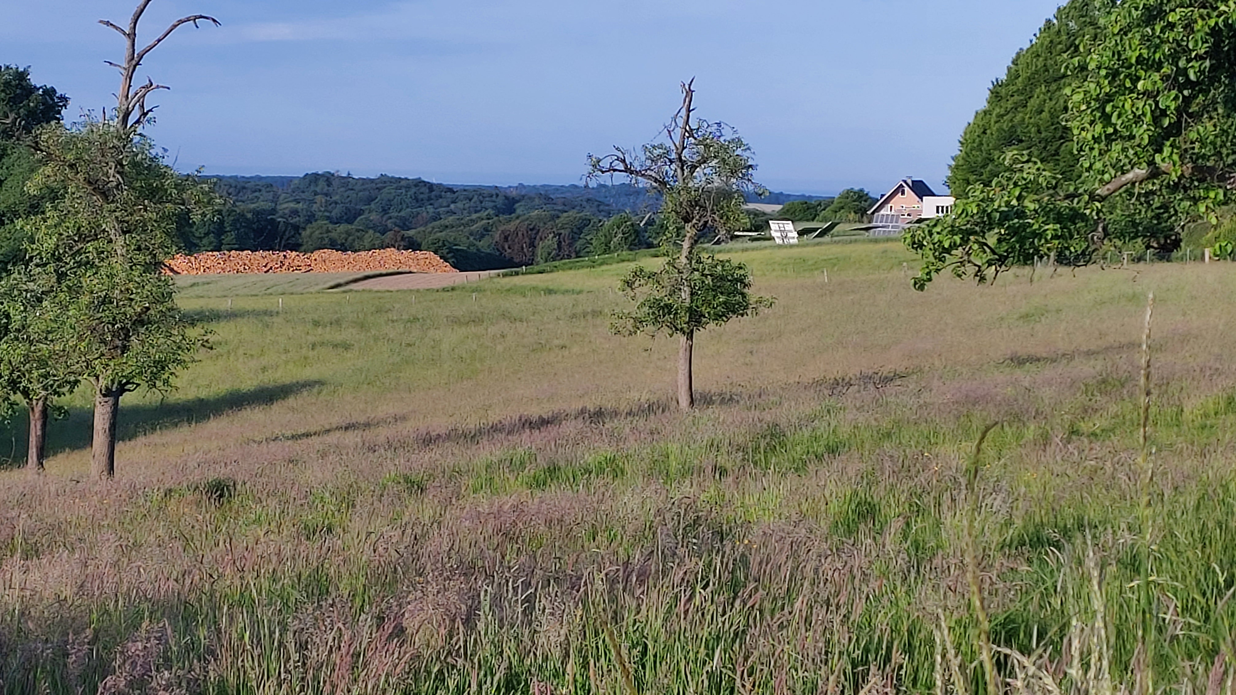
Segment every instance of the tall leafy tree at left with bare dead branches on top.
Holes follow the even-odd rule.
[[[141,0],[126,27],[103,21],[125,38],[116,108],[75,127],[44,126],[32,141],[41,168],[32,190],[57,199],[23,226],[30,263],[72,298],[57,318],[74,326],[61,345],[94,386],[91,474],[115,475],[120,398],[136,388],[164,388],[193,359],[203,339],[180,319],[163,262],[176,251],[185,218],[213,207],[208,187],[182,177],[153,151],[142,127],[151,95],[166,87],[137,70],[148,54],[184,25],[219,22],[205,15],[179,19],[153,42],[137,42],[152,0]],[[200,216],[200,215],[197,215]]]

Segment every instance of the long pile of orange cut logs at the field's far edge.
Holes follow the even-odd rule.
[[[429,251],[210,251],[176,256],[166,265],[171,275],[250,273],[355,273],[407,271],[419,273],[459,272],[438,254]]]

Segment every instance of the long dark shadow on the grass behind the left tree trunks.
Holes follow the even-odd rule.
[[[205,422],[234,411],[260,408],[286,401],[323,386],[321,381],[294,381],[257,388],[232,390],[209,398],[163,401],[161,403],[120,403],[117,439],[126,441],[154,432]],[[130,396],[131,398],[131,396]],[[89,408],[70,408],[68,417],[52,422],[47,429],[47,454],[88,449],[93,428]],[[23,412],[10,422],[0,422],[0,469],[25,464],[27,423]]]

